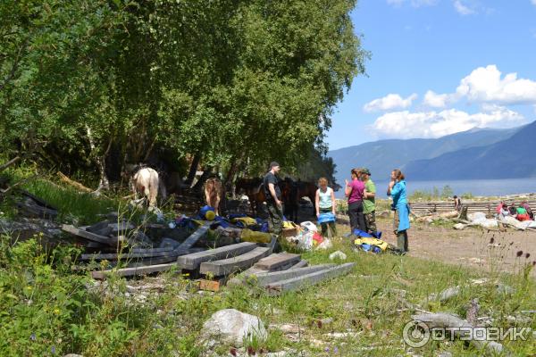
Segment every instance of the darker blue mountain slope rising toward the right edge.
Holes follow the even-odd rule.
[[[536,179],[536,121],[511,137],[406,165],[408,177],[434,179]],[[508,182],[505,181],[505,185]]]

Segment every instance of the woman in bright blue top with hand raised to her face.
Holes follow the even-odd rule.
[[[397,235],[398,251],[408,252],[407,229],[409,229],[409,206],[406,198],[406,178],[402,171],[396,169],[391,172],[387,195],[393,198],[391,209],[395,211],[393,229]]]

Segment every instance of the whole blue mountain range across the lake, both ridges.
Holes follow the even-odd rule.
[[[513,129],[470,129],[431,139],[389,139],[328,153],[343,183],[350,170],[367,167],[375,180],[388,180],[393,169],[407,179],[536,178],[536,121]]]

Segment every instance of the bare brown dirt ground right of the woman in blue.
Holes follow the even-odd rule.
[[[380,220],[384,238],[396,245],[390,220]],[[484,270],[516,271],[525,263],[536,262],[536,232],[493,232],[480,228],[455,230],[447,227],[412,224],[409,233],[409,255],[435,259],[456,265],[480,267]],[[516,257],[518,252],[521,257]],[[526,254],[529,257],[526,258]],[[536,278],[536,269],[532,270]]]

